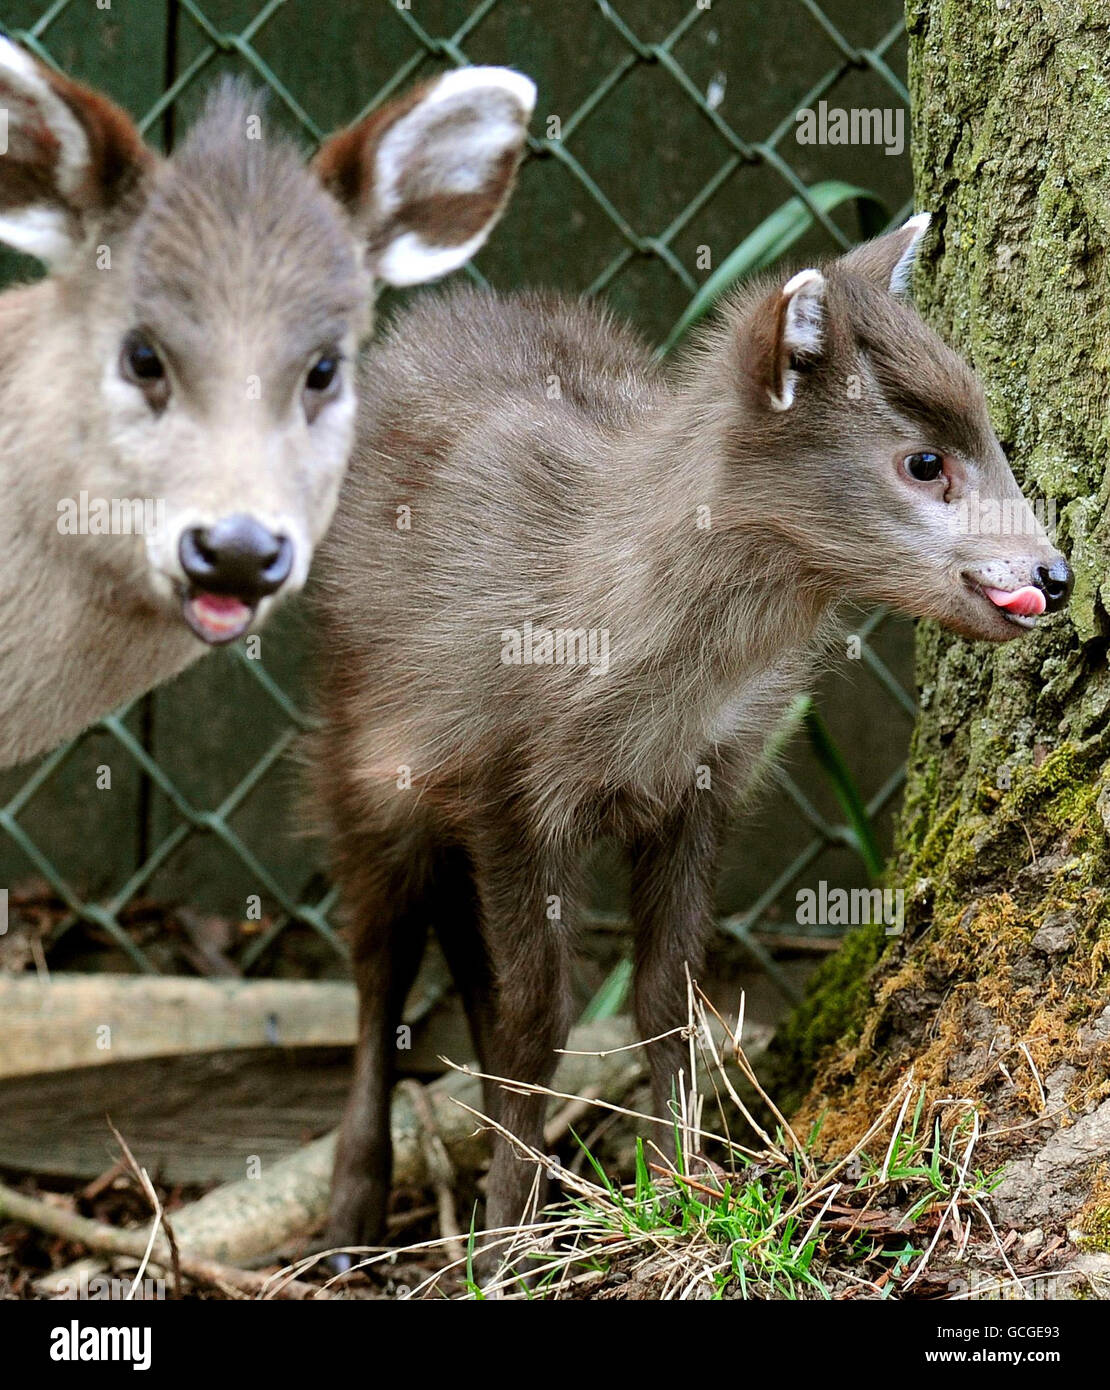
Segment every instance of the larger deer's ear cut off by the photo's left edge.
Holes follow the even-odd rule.
[[[67,260],[153,163],[107,97],[0,39],[0,242]]]

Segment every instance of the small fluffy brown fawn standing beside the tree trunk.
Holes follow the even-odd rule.
[[[483,1070],[545,1083],[581,852],[617,837],[640,1036],[681,1027],[725,820],[840,602],[999,642],[1066,603],[975,377],[899,300],[927,222],[740,293],[672,381],[540,295],[424,299],[370,353],[317,570],[315,801],[361,1001],[331,1243],[379,1232],[428,924]],[[1020,524],[960,524],[977,498]],[[661,1116],[684,1048],[650,1048]],[[540,1098],[485,1105],[542,1145]],[[490,1227],[533,1172],[495,1138]]]

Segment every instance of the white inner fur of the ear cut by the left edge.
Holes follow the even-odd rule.
[[[39,64],[14,44],[0,39],[0,106],[11,103],[8,113],[10,156],[19,160],[19,124],[32,120],[46,126],[57,140],[53,179],[63,202],[78,192],[89,168],[89,138],[81,121],[57,96]],[[4,160],[0,158],[0,178]],[[0,240],[15,250],[38,256],[47,264],[64,260],[74,249],[65,214],[43,204],[10,207],[0,217]]]

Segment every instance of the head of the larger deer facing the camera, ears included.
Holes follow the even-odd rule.
[[[482,245],[533,97],[517,72],[464,68],[306,165],[226,83],[161,158],[107,99],[0,40],[0,240],[54,286],[17,359],[58,418],[50,485],[156,503],[146,535],[96,537],[90,564],[211,645],[304,582],[353,442],[374,281],[433,279]]]

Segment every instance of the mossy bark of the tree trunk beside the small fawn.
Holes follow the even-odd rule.
[[[1003,648],[921,628],[891,869],[904,933],[864,929],[827,965],[779,1066],[815,1074],[802,1111],[825,1116],[834,1148],[913,1066],[934,1101],[978,1104],[1011,1175],[1007,1219],[1096,1237],[1110,1163],[1110,13],[909,0],[907,24],[917,206],[936,228],[916,300],[981,374],[1027,496],[1054,503],[1075,592]],[[1086,1150],[1045,1158],[1079,1133]]]

